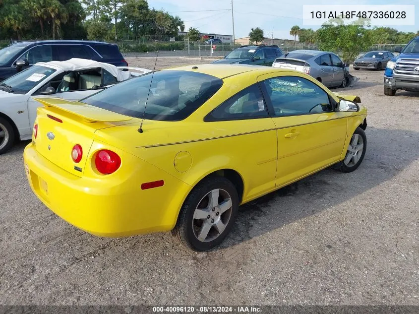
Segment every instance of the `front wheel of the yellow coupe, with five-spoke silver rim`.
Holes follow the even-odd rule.
[[[339,170],[352,172],[356,170],[362,162],[366,151],[366,135],[363,129],[357,127],[349,142],[345,159],[341,162]]]

